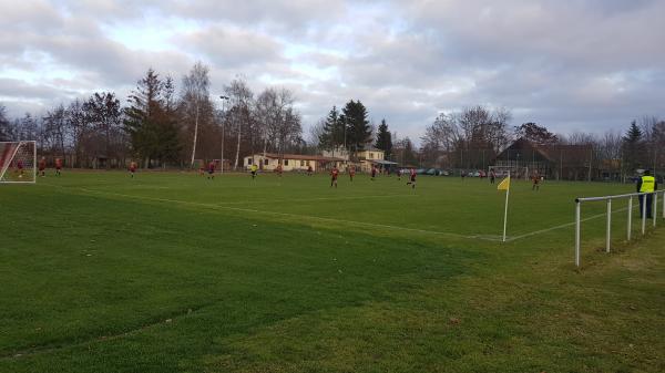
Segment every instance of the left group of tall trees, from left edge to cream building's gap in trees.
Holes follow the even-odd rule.
[[[196,63],[181,80],[149,69],[129,96],[113,92],[10,120],[0,105],[0,141],[35,139],[38,152],[60,157],[69,167],[194,167],[225,159],[242,166],[256,152],[300,153],[301,115],[286,89],[266,87],[258,95],[237,76],[218,95],[211,94],[209,69]]]

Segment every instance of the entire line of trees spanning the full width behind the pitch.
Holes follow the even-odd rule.
[[[417,167],[485,169],[516,138],[539,146],[590,145],[593,154],[580,163],[613,165],[622,175],[637,168],[665,168],[665,121],[643,116],[625,133],[554,134],[534,122],[511,126],[507,108],[477,105],[441,113],[426,126],[417,147],[390,131],[386,118],[377,126],[359,100],[341,110],[332,106],[303,137],[303,120],[294,93],[266,87],[259,94],[242,76],[211,93],[209,70],[201,62],[182,76],[149,69],[121,101],[113,92],[96,92],[47,111],[10,120],[0,105],[0,141],[37,139],[38,151],[61,157],[70,167],[124,167],[130,159],[143,167],[194,167],[198,160],[224,158],[243,166],[256,153],[318,154],[346,152],[354,159],[367,148],[382,149],[386,159]]]

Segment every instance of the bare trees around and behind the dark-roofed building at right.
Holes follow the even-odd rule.
[[[426,127],[418,152],[427,167],[487,169],[495,157],[518,138],[536,146],[586,145],[587,158],[575,159],[582,167],[603,168],[622,177],[641,168],[665,170],[665,121],[643,116],[623,133],[575,132],[554,134],[534,122],[511,126],[509,110],[472,106],[442,113]]]

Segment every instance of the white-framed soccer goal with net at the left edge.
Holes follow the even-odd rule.
[[[0,184],[34,183],[37,179],[37,143],[0,142]]]

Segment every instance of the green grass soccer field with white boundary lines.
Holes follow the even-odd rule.
[[[665,230],[615,204],[573,263],[573,199],[632,186],[515,182],[503,244],[487,180],[328,183],[0,185],[0,372],[665,371]]]

